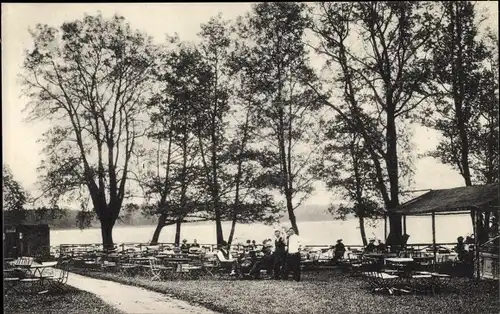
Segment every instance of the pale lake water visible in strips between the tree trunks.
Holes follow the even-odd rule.
[[[288,226],[286,223],[283,226]],[[238,224],[235,237],[241,242],[256,240],[257,243],[266,238],[271,238],[276,226],[263,224]],[[339,238],[346,245],[362,244],[357,219],[346,221],[315,221],[299,222],[299,233],[306,244],[330,245],[335,244]],[[113,229],[115,243],[147,243],[151,240],[155,226],[117,226]],[[223,223],[224,237],[227,238],[231,224]],[[408,243],[432,243],[431,217],[408,217],[406,230],[410,235]],[[469,215],[436,216],[436,241],[439,243],[456,242],[458,236],[472,233],[472,222]],[[368,238],[382,239],[384,237],[384,222],[377,221],[375,227],[366,225]],[[172,243],[175,236],[175,226],[163,228],[159,242]],[[191,242],[197,239],[199,243],[215,243],[215,223],[184,224],[181,228],[181,239]],[[90,244],[101,243],[99,228],[67,229],[50,231],[51,246],[60,244]]]

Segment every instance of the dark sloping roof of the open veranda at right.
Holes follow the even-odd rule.
[[[389,212],[420,215],[474,209],[496,211],[498,210],[498,194],[498,183],[431,190]]]

